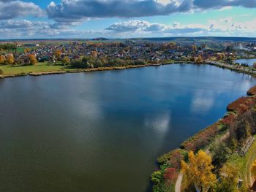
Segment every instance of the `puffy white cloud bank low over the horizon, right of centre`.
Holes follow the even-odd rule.
[[[246,32],[255,33],[256,31],[256,18],[246,22],[235,22],[233,18],[222,18],[219,20],[208,20],[208,24],[202,25],[197,23],[183,25],[181,23],[173,23],[172,25],[164,25],[160,23],[149,23],[146,20],[129,20],[121,23],[113,23],[106,28],[116,33],[127,33],[133,31],[137,34],[142,32],[149,34],[169,34],[169,35],[210,35],[212,33],[238,33]]]

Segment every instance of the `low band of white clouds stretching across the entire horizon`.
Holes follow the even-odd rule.
[[[67,25],[69,24],[69,25]],[[191,23],[150,23],[146,20],[128,20],[113,23],[104,30],[77,30],[72,26],[80,23],[48,23],[30,20],[4,20],[0,22],[0,39],[7,38],[127,38],[127,37],[171,37],[171,36],[241,36],[254,37],[256,18],[236,22],[233,18],[208,20],[205,25]]]

